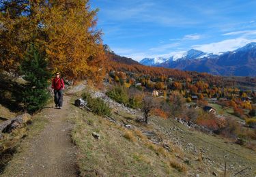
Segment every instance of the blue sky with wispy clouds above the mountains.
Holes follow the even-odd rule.
[[[171,57],[191,48],[235,50],[256,42],[256,1],[91,0],[98,29],[116,54],[140,61]]]

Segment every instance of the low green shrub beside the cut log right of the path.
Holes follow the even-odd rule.
[[[100,116],[110,116],[111,108],[100,98],[93,98],[89,93],[83,93],[83,99],[87,101],[87,107],[91,109],[94,114]]]

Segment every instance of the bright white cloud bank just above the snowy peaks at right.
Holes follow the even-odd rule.
[[[201,44],[201,45],[195,45],[192,46],[192,48],[195,48],[197,50],[201,50],[203,52],[209,52],[218,54],[220,52],[227,52],[236,50],[240,47],[245,46],[246,44],[250,42],[256,42],[256,39],[246,39],[244,37],[238,37],[236,39],[227,39],[223,40],[221,42],[213,42],[210,44]]]

